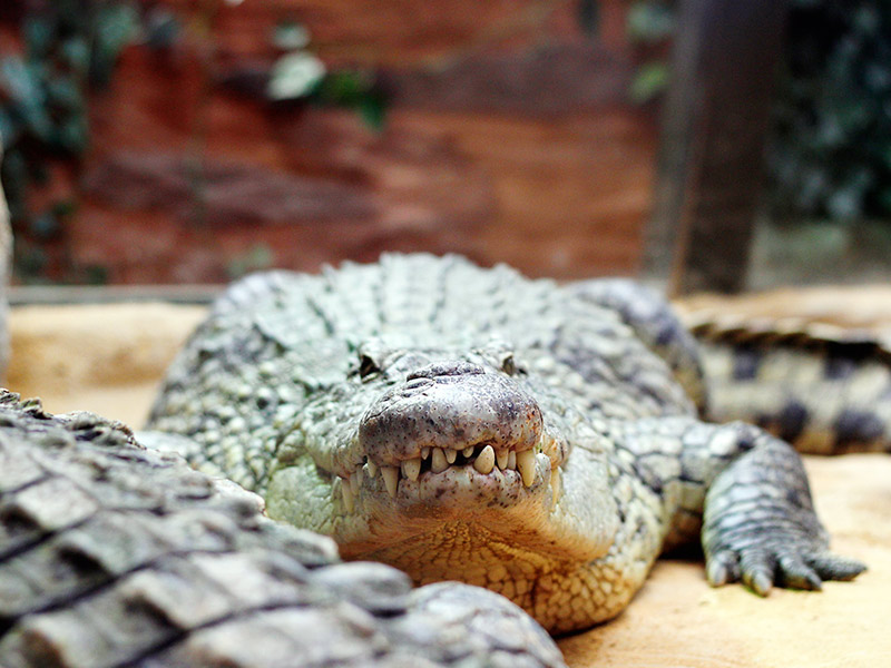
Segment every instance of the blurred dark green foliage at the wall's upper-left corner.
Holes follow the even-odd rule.
[[[52,238],[70,213],[66,202],[28,210],[28,189],[47,183],[50,160],[77,158],[87,150],[87,91],[108,84],[136,29],[137,13],[128,2],[58,0],[26,13],[23,52],[0,58],[1,174],[20,235],[37,242]],[[29,277],[42,271],[41,252],[28,243],[20,248],[19,274]]]

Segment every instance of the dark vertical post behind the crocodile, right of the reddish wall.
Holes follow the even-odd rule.
[[[738,292],[764,174],[782,0],[682,0],[644,273]]]

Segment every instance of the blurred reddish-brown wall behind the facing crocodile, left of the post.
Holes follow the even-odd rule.
[[[128,48],[95,96],[69,265],[216,282],[428,249],[532,275],[636,268],[655,130],[625,99],[625,2],[603,0],[597,40],[561,1],[245,0],[209,22],[206,1],[149,4],[176,12],[180,39]],[[287,19],[331,67],[378,72],[381,131],[257,95]]]

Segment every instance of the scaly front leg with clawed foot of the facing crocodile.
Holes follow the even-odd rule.
[[[819,589],[864,570],[829,552],[801,458],[787,443],[744,423],[640,420],[617,428],[619,453],[663,502],[665,549],[701,533],[706,577]]]

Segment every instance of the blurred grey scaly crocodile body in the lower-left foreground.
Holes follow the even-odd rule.
[[[0,393],[3,668],[565,667],[503,597],[412,589],[91,413]]]

